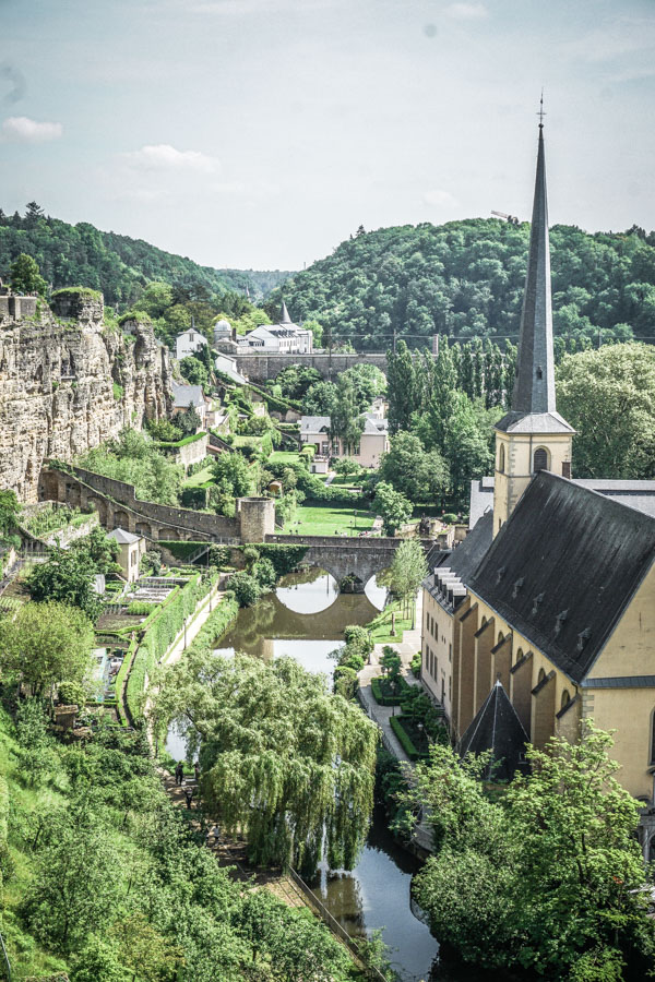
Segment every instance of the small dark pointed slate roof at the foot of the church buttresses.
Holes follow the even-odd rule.
[[[527,768],[524,759],[527,739],[507,692],[497,682],[460,740],[457,751],[461,757],[493,751],[486,776],[510,781],[514,771]]]

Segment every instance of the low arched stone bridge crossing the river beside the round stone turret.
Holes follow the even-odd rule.
[[[306,546],[302,564],[319,566],[325,570],[341,584],[353,578],[355,590],[364,587],[376,573],[381,573],[391,565],[395,551],[404,539],[349,537],[349,536],[266,536],[266,542],[281,546]],[[427,553],[434,542],[432,539],[419,540]]]

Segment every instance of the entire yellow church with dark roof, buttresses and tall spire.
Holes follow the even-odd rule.
[[[492,505],[424,582],[421,678],[460,752],[492,750],[504,776],[528,742],[575,741],[588,718],[615,730],[653,861],[655,481],[575,480],[574,435],[556,406],[541,120],[512,408],[483,482]]]

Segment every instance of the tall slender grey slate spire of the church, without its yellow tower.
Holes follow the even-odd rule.
[[[512,409],[514,412],[521,414],[555,412],[556,410],[543,96],[539,109],[535,200]]]

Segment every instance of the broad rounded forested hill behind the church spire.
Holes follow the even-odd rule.
[[[434,333],[515,336],[528,236],[527,223],[496,218],[360,229],[287,280],[284,297],[296,321],[315,318],[326,338],[357,348],[385,348],[394,331],[410,347]],[[550,244],[556,333],[655,336],[655,233],[555,226]]]

